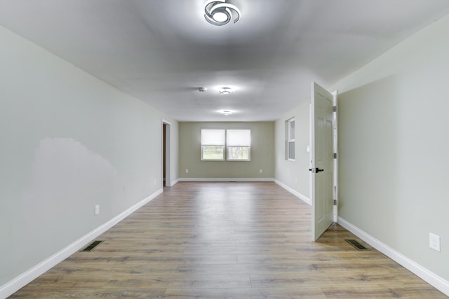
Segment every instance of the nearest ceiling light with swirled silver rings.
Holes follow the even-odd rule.
[[[204,5],[204,18],[215,26],[227,25],[234,18],[234,23],[240,19],[240,10],[226,0],[208,0]]]

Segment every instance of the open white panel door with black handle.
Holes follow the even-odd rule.
[[[333,223],[333,95],[311,84],[312,240]]]

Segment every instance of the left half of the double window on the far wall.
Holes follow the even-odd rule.
[[[225,130],[201,130],[201,160],[225,160]]]

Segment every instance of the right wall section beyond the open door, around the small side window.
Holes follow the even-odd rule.
[[[296,192],[309,197],[309,134],[310,134],[310,103],[306,102],[288,113],[275,123],[275,177],[284,185]],[[286,120],[295,118],[295,161],[286,160]]]

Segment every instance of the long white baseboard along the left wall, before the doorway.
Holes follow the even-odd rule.
[[[136,211],[143,205],[153,200],[157,195],[161,194],[162,191],[163,191],[162,189],[157,190],[152,195],[149,195],[149,197],[145,198],[144,200],[141,200],[137,204],[134,204],[129,209],[126,209],[125,211],[121,212],[121,214],[115,216],[111,220],[100,225],[98,228],[95,228],[95,230],[92,230],[87,235],[84,235],[83,237],[77,239],[72,244],[69,244],[69,246],[65,247],[61,251],[58,251],[57,253],[53,254],[53,256],[50,256],[46,260],[41,261],[41,263],[35,265],[31,269],[20,274],[18,277],[15,277],[15,279],[7,282],[3,286],[0,286],[0,298],[6,298],[9,295],[12,295],[16,291],[20,290],[20,288],[26,286],[31,281],[39,277],[41,274],[47,272],[52,267],[55,267],[55,265],[58,265],[69,256],[72,256],[73,253],[82,249],[83,246],[86,246],[86,244],[92,242],[93,239],[101,235],[103,232],[109,230],[109,228],[112,228],[114,225],[116,225],[124,218],[132,214],[134,211]]]

